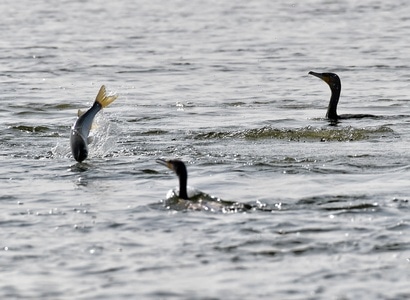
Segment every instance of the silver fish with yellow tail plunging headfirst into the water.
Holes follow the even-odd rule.
[[[88,135],[90,133],[95,115],[101,109],[110,105],[115,99],[117,99],[117,97],[117,95],[107,96],[105,86],[101,86],[93,106],[84,114],[80,115],[71,127],[71,152],[73,153],[76,161],[82,162],[88,156],[88,144],[90,142]]]

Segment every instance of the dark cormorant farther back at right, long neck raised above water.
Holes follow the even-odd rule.
[[[340,91],[342,89],[342,84],[340,83],[340,78],[335,73],[316,73],[313,71],[309,72],[309,75],[316,76],[326,82],[332,92],[330,96],[329,106],[327,107],[326,118],[332,121],[337,121],[340,119],[361,119],[361,118],[375,118],[374,115],[369,114],[343,114],[338,115],[337,104],[340,98]]]

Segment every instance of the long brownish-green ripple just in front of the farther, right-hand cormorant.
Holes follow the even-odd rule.
[[[226,139],[241,138],[248,140],[259,139],[279,139],[296,142],[320,141],[320,142],[346,142],[367,140],[375,136],[391,135],[394,131],[387,126],[377,128],[354,128],[354,127],[325,127],[314,128],[311,126],[296,129],[272,128],[270,126],[246,129],[241,131],[211,131],[207,133],[198,133],[194,139]]]

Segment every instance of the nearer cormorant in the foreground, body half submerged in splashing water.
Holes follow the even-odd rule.
[[[235,201],[221,200],[206,193],[196,191],[195,195],[189,197],[187,191],[188,172],[183,161],[179,159],[157,159],[157,163],[173,170],[179,179],[179,193],[177,199],[167,199],[168,206],[174,209],[190,209],[204,211],[238,212],[252,209],[250,204]]]

